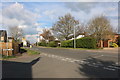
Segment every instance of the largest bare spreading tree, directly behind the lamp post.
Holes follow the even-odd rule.
[[[69,40],[74,37],[74,27],[77,34],[83,31],[82,26],[79,25],[79,21],[75,20],[74,17],[68,13],[65,16],[59,17],[59,20],[52,26],[52,30],[58,39]]]

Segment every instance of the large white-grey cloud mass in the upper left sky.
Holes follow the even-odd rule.
[[[5,3],[3,3],[5,5]],[[19,26],[25,34],[36,33],[37,19],[40,16],[32,11],[27,10],[22,4],[14,3],[2,10],[2,23],[3,26],[14,27]]]

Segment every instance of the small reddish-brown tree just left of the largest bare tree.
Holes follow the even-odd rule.
[[[51,34],[50,30],[48,30],[48,29],[43,29],[42,36],[45,40],[48,40],[48,41],[55,40],[54,36]]]

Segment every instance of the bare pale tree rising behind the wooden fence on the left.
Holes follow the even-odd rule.
[[[15,41],[20,41],[23,37],[23,30],[19,27],[9,27],[9,33]]]

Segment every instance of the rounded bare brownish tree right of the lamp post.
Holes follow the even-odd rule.
[[[98,16],[90,20],[86,32],[89,36],[94,37],[97,41],[100,41],[112,38],[114,29],[106,17]]]

